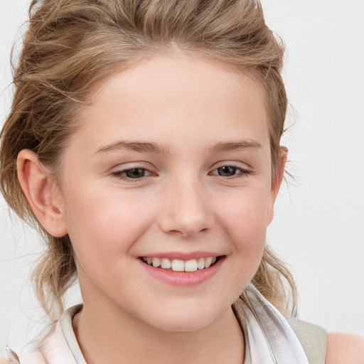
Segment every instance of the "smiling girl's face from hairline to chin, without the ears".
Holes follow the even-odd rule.
[[[96,87],[81,122],[60,199],[85,305],[207,326],[252,279],[272,219],[259,85],[213,61],[152,58]]]

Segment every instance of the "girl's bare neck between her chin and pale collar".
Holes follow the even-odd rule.
[[[168,332],[117,309],[84,304],[73,329],[85,360],[94,363],[241,364],[244,340],[232,309],[196,331]]]

